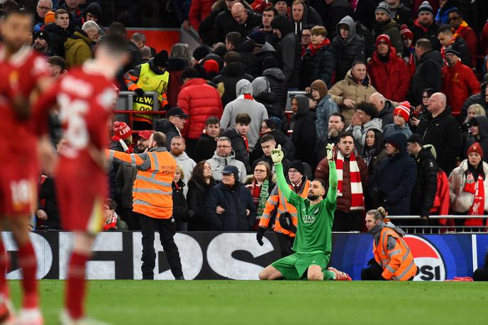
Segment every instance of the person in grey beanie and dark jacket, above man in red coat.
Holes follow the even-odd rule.
[[[382,34],[387,34],[392,40],[392,46],[397,50],[397,53],[402,53],[404,50],[404,43],[401,40],[399,26],[396,21],[392,19],[392,11],[386,2],[380,2],[375,11],[376,26],[373,29],[373,36],[378,37]]]

